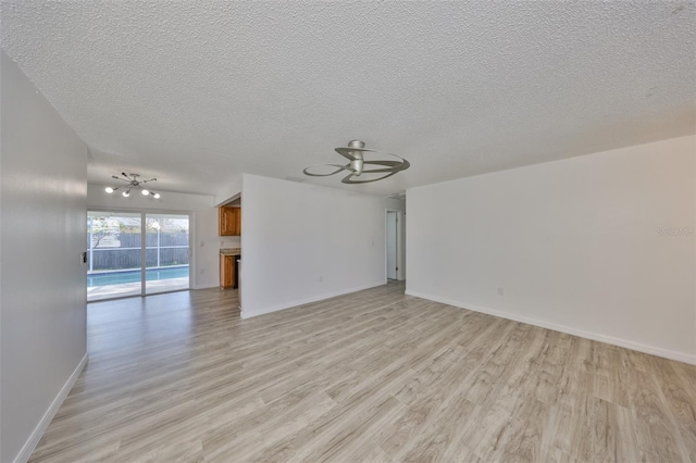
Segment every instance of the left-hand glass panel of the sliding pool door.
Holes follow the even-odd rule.
[[[142,293],[139,212],[88,211],[87,300]]]

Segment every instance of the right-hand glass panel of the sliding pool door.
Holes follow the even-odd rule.
[[[145,214],[145,293],[188,289],[189,220],[186,214]]]

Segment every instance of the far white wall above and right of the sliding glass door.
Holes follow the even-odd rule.
[[[154,188],[154,187],[152,187]],[[157,189],[156,189],[157,190]],[[160,191],[162,197],[154,199],[142,195],[108,195],[104,186],[89,185],[87,204],[89,210],[132,209],[150,212],[191,212],[191,242],[194,260],[190,272],[194,275],[194,288],[211,288],[220,285],[220,248],[238,248],[239,237],[219,236],[217,208],[213,207],[213,197]]]

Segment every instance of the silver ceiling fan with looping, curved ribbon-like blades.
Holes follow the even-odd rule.
[[[311,177],[328,177],[330,175],[338,174],[340,171],[349,172],[343,180],[344,184],[369,184],[370,182],[382,180],[383,178],[387,178],[397,174],[401,171],[406,171],[411,166],[411,164],[396,154],[383,153],[381,151],[369,150],[365,148],[365,142],[361,140],[352,140],[348,143],[348,148],[336,148],[336,152],[344,158],[348,159],[348,164],[318,164],[310,165],[304,168],[304,175],[309,175]],[[365,160],[365,154],[370,158],[372,157],[393,157],[398,159],[398,161],[391,160],[380,160],[372,159]],[[372,168],[365,168],[371,166],[376,166]],[[332,167],[336,168],[332,172],[319,172],[321,167]],[[361,179],[355,179],[355,177],[360,177],[364,175],[365,177]]]

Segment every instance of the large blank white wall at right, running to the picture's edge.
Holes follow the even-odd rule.
[[[696,363],[695,157],[688,136],[410,189],[407,292]]]

